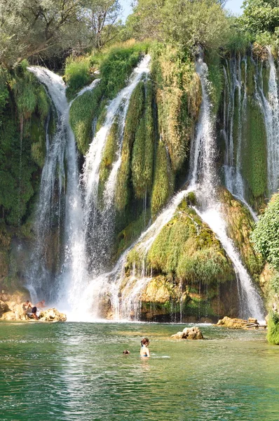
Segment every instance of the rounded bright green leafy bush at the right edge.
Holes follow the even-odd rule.
[[[274,194],[252,233],[254,249],[279,270],[279,194]]]

